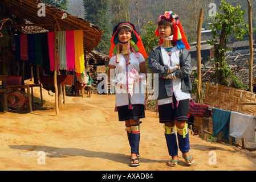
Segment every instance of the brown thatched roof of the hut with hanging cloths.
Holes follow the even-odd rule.
[[[46,16],[38,16],[38,0],[5,0],[6,6],[14,16],[29,20],[34,24],[48,31],[54,31],[54,25],[57,24],[58,31],[64,30],[83,30],[84,31],[84,54],[87,55],[99,44],[103,31],[91,22],[72,16],[66,11],[57,9],[54,6],[46,5]],[[63,14],[67,17],[62,19]]]

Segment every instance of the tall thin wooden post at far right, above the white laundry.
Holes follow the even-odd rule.
[[[251,15],[251,9],[253,5],[251,5],[251,0],[247,0],[248,2],[248,19],[249,19],[249,44],[250,44],[250,56],[248,57],[249,63],[249,90],[253,92],[253,18]]]

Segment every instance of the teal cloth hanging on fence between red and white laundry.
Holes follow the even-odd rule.
[[[215,108],[213,110],[213,135],[222,131],[222,138],[229,139],[229,122],[231,111]]]

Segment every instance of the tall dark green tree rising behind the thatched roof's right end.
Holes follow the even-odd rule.
[[[85,19],[95,24],[103,31],[103,36],[96,50],[108,55],[111,40],[109,26],[109,1],[108,0],[84,0]]]

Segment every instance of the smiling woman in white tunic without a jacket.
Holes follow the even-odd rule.
[[[143,43],[132,23],[121,22],[113,30],[109,52],[109,83],[115,84],[116,109],[131,147],[131,167],[139,166],[140,119],[145,118],[144,81],[147,66]]]

